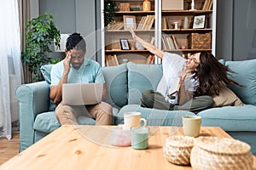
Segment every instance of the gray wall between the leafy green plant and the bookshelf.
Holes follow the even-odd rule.
[[[39,14],[49,12],[61,34],[79,32],[87,42],[86,57],[96,59],[96,11],[95,1],[39,0]],[[51,57],[57,54],[50,54]]]

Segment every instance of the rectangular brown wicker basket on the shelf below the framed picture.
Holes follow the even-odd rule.
[[[189,35],[190,49],[211,49],[211,33],[191,33]]]

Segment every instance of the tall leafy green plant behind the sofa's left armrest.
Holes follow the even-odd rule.
[[[28,66],[33,75],[32,82],[43,79],[40,67],[46,63],[56,62],[46,55],[52,52],[49,45],[55,43],[60,48],[61,33],[55,27],[53,16],[49,13],[39,15],[26,24],[26,49],[21,53],[22,62]]]

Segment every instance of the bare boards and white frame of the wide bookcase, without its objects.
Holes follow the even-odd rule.
[[[187,54],[193,54],[200,52],[202,50],[212,52],[212,54],[215,54],[215,46],[216,46],[216,11],[217,11],[217,0],[212,0],[212,8],[210,10],[189,10],[191,1],[189,0],[183,0],[183,10],[161,10],[161,0],[150,0],[151,2],[151,11],[142,11],[142,4],[143,1],[135,1],[135,0],[118,0],[116,1],[117,4],[119,3],[130,3],[130,6],[136,6],[140,8],[139,11],[118,11],[115,15],[115,21],[117,24],[124,22],[124,15],[130,15],[131,17],[134,17],[133,20],[136,20],[136,28],[133,30],[137,33],[137,35],[143,40],[151,42],[154,40],[154,45],[157,48],[162,49],[166,52],[176,53],[187,56]],[[202,8],[202,6],[205,3],[205,0],[198,0],[195,1],[197,3],[197,7]],[[102,3],[103,6],[104,3]],[[132,9],[132,8],[131,8]],[[152,26],[149,26],[149,29],[138,29],[137,27],[140,26],[139,23],[141,23],[141,20],[143,18],[147,17],[148,15],[154,15],[154,23]],[[192,23],[194,20],[194,16],[196,15],[206,15],[206,25],[204,28],[201,29],[193,29]],[[148,16],[149,17],[149,16]],[[189,28],[183,29],[183,20],[185,17],[189,18]],[[166,18],[167,22],[163,21],[163,18]],[[104,20],[104,16],[102,14],[102,20]],[[149,20],[149,19],[148,19]],[[173,22],[178,21],[179,26],[177,29],[174,29]],[[169,22],[169,23],[168,23]],[[146,22],[148,23],[148,22]],[[141,24],[142,25],[142,24]],[[147,24],[145,24],[147,25]],[[116,25],[118,26],[118,25]],[[121,27],[121,25],[116,28],[115,26],[110,27],[110,29],[104,28],[102,25],[102,66],[106,65],[106,56],[107,55],[115,55],[116,58],[121,61],[122,59],[129,59],[129,61],[132,62],[138,62],[138,63],[145,63],[148,59],[149,55],[152,55],[148,50],[137,50],[135,47],[135,42],[131,37],[131,33],[129,30],[125,30],[124,27]],[[134,26],[134,25],[133,25]],[[111,30],[111,29],[117,29],[117,30]],[[211,35],[208,36],[208,41],[204,39],[204,41],[209,42],[208,46],[204,46],[205,48],[196,47],[195,41],[192,42],[190,39],[192,35],[194,36],[193,40],[195,40],[195,35],[205,34],[205,35]],[[173,36],[175,38],[173,38]],[[166,40],[163,40],[163,38],[166,38]],[[171,45],[169,37],[172,37],[172,42],[174,42],[174,39],[177,40],[177,45],[175,48],[173,48],[173,45]],[[136,50],[122,50],[120,48],[119,40],[121,38],[127,39],[130,43],[130,46],[132,46],[132,49]],[[191,42],[193,43],[193,46],[191,46]],[[166,44],[164,45],[164,43]],[[206,44],[206,43],[202,43]],[[181,49],[182,46],[186,46],[186,49]],[[167,47],[167,48],[166,48]],[[131,47],[130,47],[131,48]],[[160,59],[154,59],[155,64],[159,64],[161,61]]]

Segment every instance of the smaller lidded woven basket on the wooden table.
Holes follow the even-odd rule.
[[[190,164],[190,152],[193,148],[194,138],[188,136],[172,136],[166,139],[163,147],[167,161],[177,165]]]

